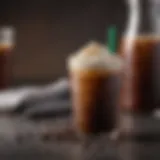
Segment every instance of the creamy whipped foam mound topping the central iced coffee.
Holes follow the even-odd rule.
[[[100,69],[118,71],[122,68],[122,59],[109,53],[104,45],[90,42],[76,54],[69,57],[69,69]]]

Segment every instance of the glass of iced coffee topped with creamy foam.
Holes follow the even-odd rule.
[[[122,59],[110,55],[106,46],[96,42],[90,42],[69,58],[76,131],[90,134],[114,128],[116,94],[112,89],[117,89],[115,75],[121,67]]]

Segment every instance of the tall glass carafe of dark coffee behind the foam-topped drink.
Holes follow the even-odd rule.
[[[160,57],[160,29],[155,3],[153,0],[127,0],[129,21],[120,43],[124,70],[119,107],[123,111],[151,113],[156,108],[156,88],[160,81],[157,82],[158,66],[155,64],[160,64],[157,61],[157,56]]]

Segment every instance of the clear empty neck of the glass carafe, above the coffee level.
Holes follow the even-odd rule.
[[[136,37],[139,35],[157,35],[157,33],[160,33],[160,2],[158,6],[153,1],[128,0],[129,17],[125,35]]]

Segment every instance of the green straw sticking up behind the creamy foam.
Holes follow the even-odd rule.
[[[111,26],[107,31],[107,46],[111,54],[117,51],[117,28]]]

